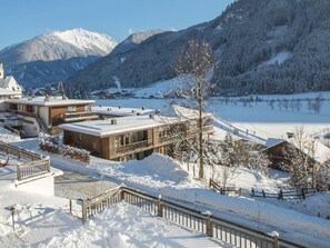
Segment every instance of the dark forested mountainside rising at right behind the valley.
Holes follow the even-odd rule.
[[[114,77],[124,88],[169,80],[188,41],[204,40],[217,56],[217,95],[330,90],[329,12],[324,0],[237,0],[209,22],[123,41],[68,82],[94,90]]]

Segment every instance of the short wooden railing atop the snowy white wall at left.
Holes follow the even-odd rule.
[[[17,179],[23,180],[36,176],[44,175],[50,172],[49,158],[39,161],[31,161],[24,165],[17,165]]]

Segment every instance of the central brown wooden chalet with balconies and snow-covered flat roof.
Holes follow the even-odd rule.
[[[167,121],[164,121],[164,119]],[[160,116],[129,116],[60,125],[66,145],[84,148],[92,155],[117,161],[143,159],[152,152],[171,155],[178,133],[193,137],[192,121]],[[194,121],[196,125],[196,121]],[[174,126],[180,128],[174,128]],[[204,127],[206,133],[213,131]]]

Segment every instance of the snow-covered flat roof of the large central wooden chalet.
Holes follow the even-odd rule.
[[[68,131],[81,132],[97,137],[107,137],[129,131],[146,130],[178,121],[177,118],[161,116],[152,116],[152,118],[150,118],[150,116],[130,116],[116,118],[116,120],[117,123],[113,125],[111,123],[111,119],[108,119],[64,123],[59,127]]]

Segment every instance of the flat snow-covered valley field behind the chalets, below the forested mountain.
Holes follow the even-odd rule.
[[[176,80],[157,82],[156,85],[138,90],[139,97],[160,96],[169,92]],[[308,100],[314,100],[321,96],[320,113],[314,113],[308,109]],[[330,92],[312,92],[297,95],[271,95],[271,96],[249,96],[244,97],[261,101],[250,103],[242,102],[243,98],[212,98],[208,102],[207,110],[216,118],[247,130],[249,133],[256,133],[262,138],[287,138],[287,132],[294,132],[296,128],[303,126],[307,133],[312,135],[322,129],[330,128]],[[290,101],[299,99],[301,109],[291,108]],[[269,101],[273,100],[273,109]],[[160,109],[162,115],[171,112],[170,105],[179,103],[180,99],[112,99],[97,100],[97,105],[102,106],[122,106],[128,108],[148,108]],[[281,103],[279,103],[281,102]],[[283,103],[286,102],[286,103]],[[286,107],[287,106],[287,107]]]

